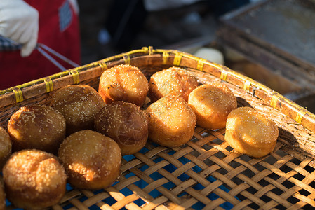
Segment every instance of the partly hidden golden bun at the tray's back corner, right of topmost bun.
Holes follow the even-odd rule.
[[[149,98],[152,102],[168,94],[177,94],[187,102],[188,95],[198,86],[196,77],[179,67],[170,67],[154,73],[149,80]]]

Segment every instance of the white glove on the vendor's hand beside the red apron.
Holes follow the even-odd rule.
[[[36,47],[39,13],[22,0],[0,0],[0,35],[22,44],[21,56],[29,56]]]

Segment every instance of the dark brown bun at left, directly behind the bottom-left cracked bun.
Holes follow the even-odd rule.
[[[62,114],[50,106],[23,106],[8,121],[13,151],[36,148],[57,153],[65,139],[66,123]]]

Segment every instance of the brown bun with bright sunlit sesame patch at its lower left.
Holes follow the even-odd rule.
[[[58,156],[69,183],[76,188],[107,188],[120,174],[120,148],[99,132],[82,130],[71,134],[60,145]]]

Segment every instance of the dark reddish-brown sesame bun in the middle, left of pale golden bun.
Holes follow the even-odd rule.
[[[131,155],[147,143],[148,116],[128,102],[106,104],[95,116],[95,130],[114,139],[121,154]]]

